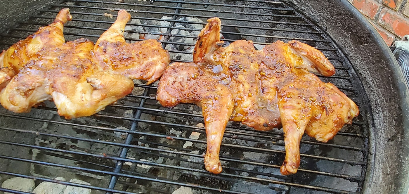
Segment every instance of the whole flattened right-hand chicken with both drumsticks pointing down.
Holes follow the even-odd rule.
[[[331,83],[324,54],[299,41],[276,41],[256,50],[252,41],[222,47],[220,20],[211,18],[199,34],[194,63],[173,63],[159,82],[162,106],[195,103],[202,108],[207,133],[205,167],[220,173],[220,144],[227,122],[257,130],[283,126],[285,160],[281,174],[297,172],[303,133],[327,142],[359,114],[357,105]]]

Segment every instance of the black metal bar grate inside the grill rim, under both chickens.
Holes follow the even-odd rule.
[[[345,126],[328,143],[304,136],[298,173],[282,176],[284,158],[282,130],[256,131],[229,122],[220,150],[223,172],[209,174],[204,169],[206,149],[201,110],[180,104],[169,110],[155,100],[156,85],[135,82],[133,93],[91,117],[64,120],[54,104],[34,108],[31,113],[13,114],[0,109],[0,181],[23,177],[92,189],[92,193],[178,193],[180,187],[191,193],[337,193],[362,192],[368,158],[368,105],[362,84],[348,59],[321,28],[295,9],[279,1],[258,0],[155,0],[125,2],[97,0],[61,1],[38,10],[28,20],[0,37],[0,45],[13,43],[48,25],[59,9],[70,8],[73,19],[64,27],[67,41],[84,37],[96,41],[115,21],[119,9],[126,9],[133,27],[164,27],[144,21],[165,21],[167,31],[129,34],[160,35],[164,47],[175,44],[171,37],[196,38],[175,34],[200,29],[176,23],[205,25],[207,18],[222,20],[222,34],[240,35],[256,45],[276,40],[299,40],[321,50],[334,64],[334,76],[320,77],[337,85],[360,107],[352,125]],[[112,18],[108,17],[112,14]],[[162,18],[168,16],[169,18]],[[182,17],[203,22],[184,21]],[[127,41],[140,41],[126,38]],[[234,41],[233,39],[222,39]],[[178,43],[193,46],[194,43]],[[187,50],[169,50],[172,61],[189,62]],[[67,181],[54,180],[62,176]],[[90,185],[68,182],[85,180]],[[0,188],[3,192],[26,193]]]

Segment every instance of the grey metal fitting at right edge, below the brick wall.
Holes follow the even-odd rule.
[[[409,35],[403,36],[402,41],[395,41],[393,47],[395,47],[393,55],[395,55],[406,83],[409,85]]]

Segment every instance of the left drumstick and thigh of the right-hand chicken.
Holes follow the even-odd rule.
[[[202,107],[207,135],[205,167],[220,173],[220,144],[231,112],[233,95],[223,84],[227,75],[213,72],[213,68],[200,63],[173,63],[159,80],[157,99],[162,106],[173,107],[179,103],[195,103]]]

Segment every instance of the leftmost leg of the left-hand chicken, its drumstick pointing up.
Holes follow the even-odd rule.
[[[40,27],[38,31],[0,54],[0,90],[31,59],[38,58],[38,52],[65,43],[63,25],[70,21],[70,9],[61,9],[53,23]]]

